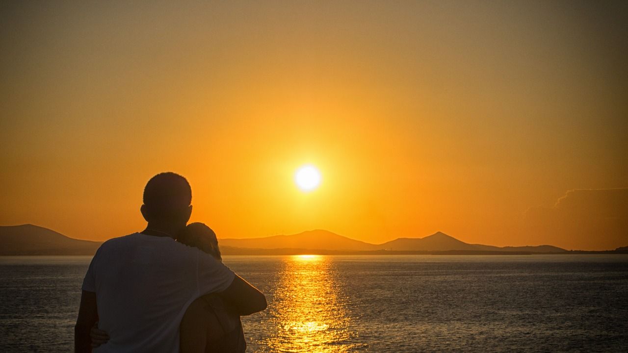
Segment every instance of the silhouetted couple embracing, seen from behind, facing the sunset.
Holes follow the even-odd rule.
[[[191,202],[183,176],[149,180],[146,229],[104,242],[85,274],[76,352],[244,352],[240,315],[266,297],[222,263],[209,227],[186,226]]]

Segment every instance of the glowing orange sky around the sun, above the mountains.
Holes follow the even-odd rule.
[[[138,231],[144,184],[170,170],[219,237],[626,246],[627,14],[3,3],[0,224]],[[311,193],[293,183],[305,163]]]

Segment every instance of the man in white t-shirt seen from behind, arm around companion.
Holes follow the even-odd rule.
[[[175,241],[192,214],[183,176],[153,176],[143,198],[146,229],[104,242],[85,274],[76,352],[91,352],[89,332],[97,321],[110,337],[98,352],[178,352],[181,317],[206,293],[219,293],[240,315],[266,308],[264,295],[227,266]]]

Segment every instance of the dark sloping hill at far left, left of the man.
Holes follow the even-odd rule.
[[[100,244],[32,224],[0,226],[0,255],[94,255]]]

